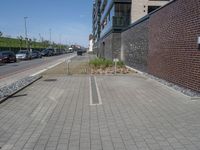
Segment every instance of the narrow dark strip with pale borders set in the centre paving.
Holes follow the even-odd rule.
[[[95,76],[89,78],[90,86],[90,105],[97,106],[102,105],[101,94]]]

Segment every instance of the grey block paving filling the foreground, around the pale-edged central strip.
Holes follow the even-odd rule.
[[[155,81],[97,76],[44,79],[0,104],[2,150],[199,150],[200,101]]]

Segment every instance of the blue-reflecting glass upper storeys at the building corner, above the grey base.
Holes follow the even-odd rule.
[[[131,0],[102,0],[101,34],[105,36],[110,31],[120,31],[131,23]]]

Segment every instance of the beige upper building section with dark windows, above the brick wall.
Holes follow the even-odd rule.
[[[171,0],[132,0],[131,22],[135,22]]]

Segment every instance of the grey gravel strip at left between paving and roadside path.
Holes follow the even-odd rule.
[[[20,79],[10,85],[4,86],[0,88],[0,101],[8,96],[11,96],[13,93],[23,89],[29,84],[33,83],[37,79],[41,78],[41,76],[28,76],[23,79]]]

